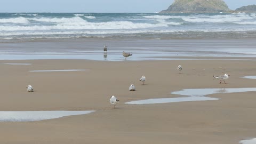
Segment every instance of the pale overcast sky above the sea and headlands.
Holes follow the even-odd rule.
[[[159,12],[174,0],[1,0],[0,12]],[[256,4],[256,0],[224,0],[229,9]]]

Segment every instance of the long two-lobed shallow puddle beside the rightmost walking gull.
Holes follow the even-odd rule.
[[[153,103],[218,100],[217,98],[205,97],[204,95],[215,94],[215,93],[235,93],[235,92],[249,92],[249,91],[256,91],[256,88],[252,87],[252,88],[234,88],[234,89],[184,89],[181,91],[172,92],[171,94],[188,95],[190,97],[146,99],[146,100],[130,101],[125,103],[132,104],[132,105],[142,105],[142,104],[153,104]]]

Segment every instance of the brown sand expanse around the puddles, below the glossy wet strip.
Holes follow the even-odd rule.
[[[35,122],[1,122],[0,143],[234,144],[256,137],[256,92],[211,94],[213,101],[127,105],[181,97],[193,88],[255,87],[256,61],[244,60],[1,60],[0,110],[96,110]],[[31,63],[4,65],[3,63]],[[183,67],[181,74],[176,69]],[[90,69],[29,72],[29,70]],[[213,75],[228,73],[228,84]],[[145,75],[146,83],[139,78]],[[137,91],[129,91],[130,84]],[[35,92],[27,92],[33,85]],[[109,103],[111,95],[120,102]]]

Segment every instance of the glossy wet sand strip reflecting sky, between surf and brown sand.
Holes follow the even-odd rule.
[[[103,46],[108,45],[108,52]],[[0,45],[2,60],[87,59],[123,61],[122,51],[133,55],[127,60],[255,59],[252,39],[138,40],[138,41],[52,41],[5,43]]]

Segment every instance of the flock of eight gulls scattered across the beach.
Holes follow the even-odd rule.
[[[104,51],[104,52],[107,52],[107,51],[108,51],[107,45],[104,46],[103,51]],[[131,55],[132,55],[131,53],[127,53],[127,52],[124,52],[124,51],[123,51],[123,56],[124,56],[125,60],[126,60],[126,58],[130,57]],[[179,66],[177,67],[177,70],[179,71],[179,73],[181,73],[181,70],[182,70],[181,65],[179,65]],[[228,74],[225,74],[225,75],[213,76],[213,77],[214,77],[214,79],[220,79],[220,84],[221,84],[222,81],[226,84],[225,80],[229,78],[229,75],[228,75]],[[146,81],[146,77],[145,77],[145,76],[142,76],[142,77],[139,79],[139,81],[141,81],[141,82],[143,83],[142,85],[144,85],[144,84],[145,84],[145,81]],[[129,90],[130,90],[130,91],[135,91],[135,86],[134,86],[134,84],[131,84],[131,85],[130,85]],[[28,92],[33,92],[34,89],[33,89],[33,87],[32,87],[31,85],[28,85],[28,86],[27,86],[27,91],[28,91]],[[115,108],[115,107],[116,107],[116,103],[119,102],[119,100],[118,100],[114,95],[112,95],[112,97],[109,99],[109,102],[110,102],[111,104],[113,104],[113,105],[114,105],[114,108]]]

